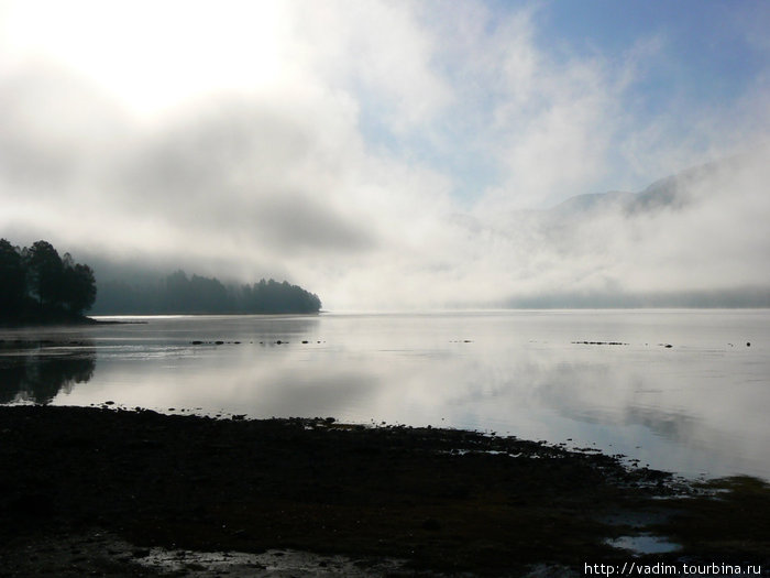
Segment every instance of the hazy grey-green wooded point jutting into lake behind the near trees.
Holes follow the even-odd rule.
[[[117,314],[278,314],[318,313],[321,301],[298,285],[274,280],[223,284],[179,270],[157,283],[100,283],[95,313]]]

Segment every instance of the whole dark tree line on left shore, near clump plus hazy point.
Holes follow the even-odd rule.
[[[95,314],[318,313],[317,295],[274,280],[224,285],[216,277],[179,270],[157,283],[97,283],[90,266],[47,241],[19,248],[0,239],[0,321],[72,321]]]

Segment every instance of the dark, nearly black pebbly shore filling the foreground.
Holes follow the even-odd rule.
[[[646,533],[681,549],[635,557],[607,543]],[[338,568],[332,555],[362,575],[581,575],[630,561],[767,572],[770,488],[684,483],[461,430],[0,407],[0,576],[202,576],[197,561],[140,564],[156,547],[315,553],[321,575]],[[238,576],[278,568],[244,564]]]

